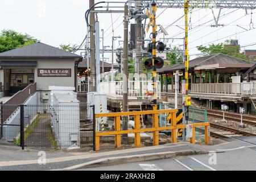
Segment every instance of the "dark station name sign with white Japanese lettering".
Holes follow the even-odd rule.
[[[38,69],[39,77],[70,77],[71,69]]]

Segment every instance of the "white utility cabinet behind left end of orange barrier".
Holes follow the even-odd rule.
[[[88,119],[93,121],[93,109],[92,105],[95,106],[95,114],[101,113],[100,104],[102,104],[102,113],[109,113],[107,110],[107,97],[106,94],[100,94],[99,92],[88,92],[87,93],[87,116]],[[106,117],[103,118],[106,123]]]

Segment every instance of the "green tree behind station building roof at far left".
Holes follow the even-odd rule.
[[[20,34],[14,30],[2,30],[0,33],[0,52],[10,51],[11,49],[27,46],[38,42],[28,34]]]

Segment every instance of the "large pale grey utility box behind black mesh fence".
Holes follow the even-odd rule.
[[[59,147],[80,146],[80,113],[76,94],[53,93],[52,127]]]

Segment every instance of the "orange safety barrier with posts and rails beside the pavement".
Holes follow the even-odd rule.
[[[158,131],[161,130],[171,130],[171,141],[172,143],[177,142],[177,129],[184,129],[187,125],[177,125],[176,122],[171,122],[171,126],[166,127],[159,127],[158,125],[158,115],[162,113],[170,113],[172,117],[172,121],[176,121],[176,109],[164,109],[164,110],[146,110],[146,111],[132,111],[132,112],[122,112],[122,113],[99,113],[94,114],[94,121],[96,118],[101,117],[114,117],[114,129],[115,131],[106,131],[106,132],[99,132],[96,131],[95,133],[95,140],[94,140],[94,150],[100,150],[100,137],[106,135],[115,135],[115,147],[121,147],[121,135],[122,134],[129,134],[134,133],[134,144],[135,147],[141,146],[141,133],[142,132],[153,132],[153,145],[156,146],[159,144],[159,135]],[[153,118],[153,126],[152,128],[142,129],[140,125],[140,115],[144,114],[152,114]],[[121,130],[121,117],[134,115],[134,130]],[[96,123],[94,123],[96,125]],[[205,127],[205,143],[209,144],[209,135],[208,135],[208,127],[210,126],[209,122],[203,123],[193,123],[192,124],[192,138],[190,139],[191,143],[195,143],[196,131],[195,127]]]

